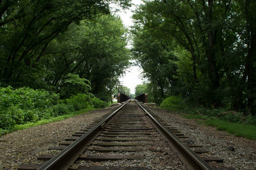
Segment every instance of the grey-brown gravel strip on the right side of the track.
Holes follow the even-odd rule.
[[[236,169],[256,169],[256,141],[236,137],[227,132],[205,127],[196,120],[182,118],[179,113],[144,105],[166,123],[177,127],[196,144],[201,144],[212,157],[223,158],[222,166]]]

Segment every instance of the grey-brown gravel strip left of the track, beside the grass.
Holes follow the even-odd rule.
[[[58,146],[58,143],[77,130],[85,128],[96,118],[114,111],[117,107],[90,111],[66,120],[2,135],[0,137],[0,169],[17,169],[20,164],[36,163],[39,155],[49,153],[50,146]]]

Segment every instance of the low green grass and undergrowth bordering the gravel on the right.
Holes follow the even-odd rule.
[[[223,108],[191,107],[180,97],[164,99],[161,108],[184,112],[184,118],[202,120],[200,122],[207,126],[227,131],[237,137],[256,140],[256,116],[251,114],[244,115],[242,112],[227,111]]]

